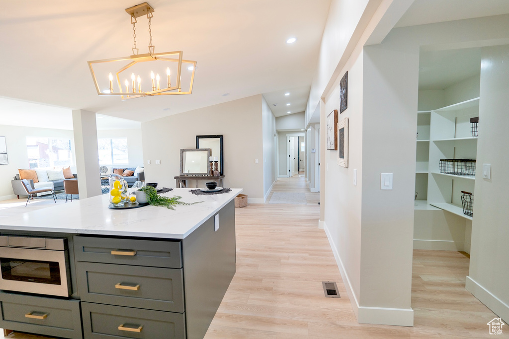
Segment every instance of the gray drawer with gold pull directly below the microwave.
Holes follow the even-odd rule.
[[[0,327],[64,338],[82,338],[79,302],[0,292]]]

